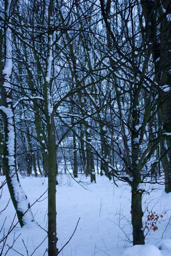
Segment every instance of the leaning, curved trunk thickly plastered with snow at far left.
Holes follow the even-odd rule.
[[[0,81],[1,88],[1,115],[4,121],[4,171],[7,180],[7,186],[10,192],[14,208],[17,213],[19,224],[21,227],[27,221],[33,221],[33,214],[30,209],[30,203],[25,192],[19,183],[19,178],[16,169],[16,133],[12,102],[12,89],[10,87],[10,76],[12,74],[12,48],[11,48],[11,30],[7,27],[10,23],[10,1],[5,0],[5,60],[4,70],[0,66],[0,76],[4,79]],[[5,81],[5,82],[3,82]]]

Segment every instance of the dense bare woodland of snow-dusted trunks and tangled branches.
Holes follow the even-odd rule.
[[[170,49],[170,0],[0,0],[0,188],[24,227],[19,175],[47,177],[49,256],[61,170],[128,184],[145,244],[145,185],[171,192]]]

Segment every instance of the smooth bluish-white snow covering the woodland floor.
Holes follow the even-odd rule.
[[[47,178],[21,176],[19,178],[31,204],[47,190]],[[4,177],[0,176],[0,182],[3,180]],[[80,217],[72,239],[60,255],[171,255],[171,193],[166,194],[164,186],[155,185],[152,187],[152,185],[147,184],[146,191],[150,193],[147,192],[143,195],[144,225],[147,221],[147,215],[149,212],[151,214],[152,211],[152,213],[159,216],[156,224],[154,223],[158,230],[154,232],[153,227],[150,228],[152,221],[149,221],[149,231],[145,229],[145,234],[148,232],[145,240],[146,245],[132,246],[131,189],[128,184],[117,182],[119,185],[117,187],[107,177],[100,177],[100,175],[96,176],[96,184],[89,184],[89,178],[81,176],[77,180],[84,182],[80,183],[84,188],[72,180],[69,175],[58,176],[59,185],[56,186],[56,199],[59,250],[73,234]],[[9,199],[10,195],[7,185],[5,185],[0,199],[1,210],[6,207]],[[145,210],[146,207],[148,207],[149,212]],[[29,223],[23,228],[20,228],[18,224],[8,235],[2,255],[48,255],[45,252],[47,233],[44,231],[44,229],[47,230],[47,192],[32,206],[32,212],[35,223]],[[0,238],[5,236],[10,226],[17,222],[16,217],[13,221],[14,216],[15,210],[10,200],[8,206],[1,212]],[[11,225],[11,223],[13,224]],[[0,246],[1,254],[3,243]],[[11,246],[12,248],[9,249]],[[38,249],[36,249],[37,247]],[[6,252],[7,254],[5,254]]]

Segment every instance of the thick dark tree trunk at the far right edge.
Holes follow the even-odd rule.
[[[146,43],[152,50],[153,63],[155,65],[156,82],[158,87],[159,136],[162,133],[171,132],[171,52],[170,40],[171,29],[168,20],[170,14],[171,0],[168,1],[144,1],[141,0],[144,19],[146,22]],[[165,89],[168,87],[168,90]],[[163,87],[163,88],[162,88]],[[167,141],[167,145],[165,142]],[[166,149],[171,146],[171,139],[160,143],[162,166],[165,173],[165,191],[171,192],[171,153],[162,156]]]

